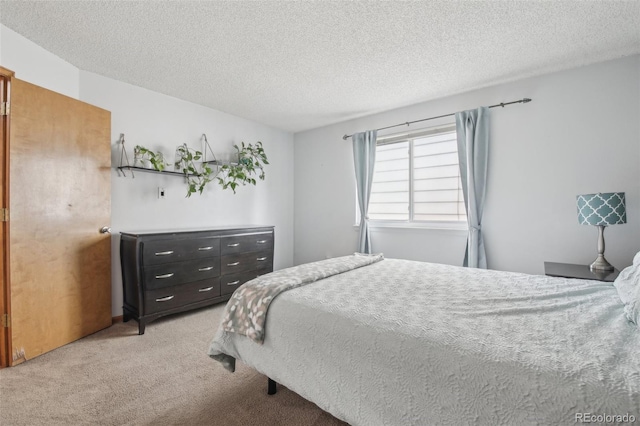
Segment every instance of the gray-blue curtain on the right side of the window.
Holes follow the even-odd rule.
[[[462,192],[469,224],[463,266],[487,269],[482,236],[482,209],[489,157],[489,108],[457,112],[456,131]]]

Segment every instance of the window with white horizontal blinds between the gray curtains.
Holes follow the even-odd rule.
[[[454,125],[378,138],[369,219],[466,223]]]

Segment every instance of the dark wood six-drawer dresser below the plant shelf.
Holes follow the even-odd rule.
[[[123,320],[144,334],[157,318],[224,302],[273,271],[273,246],[272,226],[121,232]]]

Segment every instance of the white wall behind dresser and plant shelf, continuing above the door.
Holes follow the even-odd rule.
[[[0,64],[16,77],[111,111],[112,313],[122,314],[119,232],[178,230],[220,225],[274,225],[274,268],[293,264],[293,135],[220,111],[78,70],[33,42],[2,27]],[[5,35],[9,34],[9,37]],[[5,62],[6,60],[6,62]],[[47,73],[46,70],[51,71]],[[260,140],[269,158],[266,180],[257,186],[223,191],[210,184],[202,196],[185,198],[184,179],[153,173],[119,177],[120,133],[129,159],[133,147],[161,150],[173,161],[178,145],[199,149],[206,133],[216,155],[233,143]],[[166,197],[158,199],[158,187]],[[101,225],[101,224],[99,224]]]

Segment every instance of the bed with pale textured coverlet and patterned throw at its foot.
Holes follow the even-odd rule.
[[[616,286],[381,256],[337,273],[300,265],[265,276],[288,289],[263,300],[258,338],[248,323],[262,314],[245,312],[244,331],[225,316],[209,355],[354,426],[636,420],[636,259]],[[234,294],[227,314],[241,303]]]

